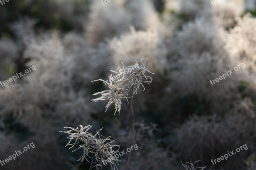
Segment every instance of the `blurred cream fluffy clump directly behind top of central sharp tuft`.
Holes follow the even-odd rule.
[[[122,34],[110,43],[115,65],[122,61],[124,64],[133,63],[133,57],[148,56],[148,69],[162,74],[169,68],[167,64],[168,48],[164,37],[158,30],[136,31],[130,27],[130,32]]]

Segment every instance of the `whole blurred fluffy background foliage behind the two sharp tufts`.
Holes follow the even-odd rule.
[[[104,113],[105,103],[91,102],[91,95],[106,87],[91,81],[108,79],[121,61],[129,65],[147,55],[156,76],[134,99],[140,136],[131,167],[182,169],[180,161],[192,157],[209,169],[255,168],[256,11],[242,2],[214,8],[206,0],[0,4],[0,80],[31,65],[37,68],[0,89],[0,160],[33,141],[34,152],[5,167],[89,169],[87,161],[77,162],[82,150],[64,148],[67,136],[59,132],[80,124],[94,131],[104,127],[101,135],[125,150],[131,136],[129,104],[123,102],[120,115],[113,115],[113,107]],[[242,62],[246,69],[240,73],[209,83]],[[248,151],[211,165],[211,159],[245,143]]]

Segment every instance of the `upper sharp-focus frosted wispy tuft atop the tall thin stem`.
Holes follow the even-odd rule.
[[[124,67],[123,63],[122,65],[123,68],[118,67],[116,71],[111,70],[116,73],[116,75],[114,77],[110,75],[109,82],[102,79],[94,80],[103,81],[108,85],[109,90],[94,93],[93,96],[100,95],[100,97],[93,99],[92,101],[109,100],[106,106],[106,111],[112,103],[115,103],[114,115],[117,111],[120,114],[122,104],[121,99],[126,99],[128,102],[128,98],[132,98],[134,94],[137,94],[137,90],[140,86],[145,90],[142,83],[150,84],[152,82],[152,78],[146,76],[145,73],[148,72],[154,74],[148,70],[148,67],[146,67],[146,60],[144,60],[144,58],[138,61],[135,60],[135,64],[128,67]],[[131,94],[129,94],[130,90],[132,90]]]

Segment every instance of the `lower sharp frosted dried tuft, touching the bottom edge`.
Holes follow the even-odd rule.
[[[98,167],[102,167],[104,164],[103,161],[115,157],[115,154],[119,151],[119,145],[112,144],[115,140],[111,140],[110,136],[105,139],[100,137],[99,132],[103,128],[101,128],[99,131],[96,131],[95,135],[92,135],[88,132],[92,128],[90,125],[85,127],[80,125],[80,129],[74,129],[70,127],[65,128],[71,129],[64,132],[69,134],[68,139],[70,139],[65,147],[70,146],[69,149],[71,149],[75,147],[76,144],[79,144],[79,147],[74,151],[83,148],[84,154],[79,160],[82,162],[84,159],[86,159],[88,162],[90,162],[88,159],[92,159],[90,169],[93,167],[96,167],[96,169],[98,169]],[[73,140],[75,141],[73,142]],[[80,142],[82,142],[82,144],[80,144]],[[118,147],[117,151],[114,151],[113,147]],[[111,160],[109,163],[111,169],[117,169],[116,164],[118,164],[118,161],[120,160]],[[92,166],[93,164],[95,165]]]

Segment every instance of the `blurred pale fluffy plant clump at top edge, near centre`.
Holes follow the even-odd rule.
[[[159,25],[157,13],[149,1],[112,0],[107,5],[95,1],[85,26],[85,35],[93,46],[97,46],[101,41],[111,40],[129,31],[129,26],[145,31]]]

